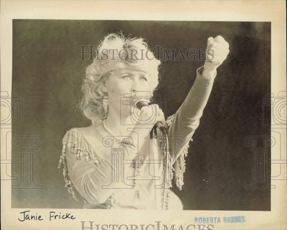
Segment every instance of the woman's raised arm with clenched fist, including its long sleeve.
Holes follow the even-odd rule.
[[[197,69],[195,82],[183,104],[175,113],[173,122],[168,129],[170,147],[177,149],[176,156],[172,156],[174,161],[188,145],[199,125],[199,119],[203,114],[203,109],[208,101],[216,77],[216,69],[226,59],[229,53],[228,48],[229,45],[222,36],[217,36],[214,39],[212,37],[208,38],[207,59],[204,67]],[[181,138],[184,144],[179,146],[179,142],[174,143],[176,136]]]

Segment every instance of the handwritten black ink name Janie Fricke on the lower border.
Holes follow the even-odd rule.
[[[36,214],[32,215],[30,213],[30,210],[24,211],[24,212],[20,212],[20,214],[22,214],[21,218],[18,218],[19,221],[42,221],[44,220],[43,217],[41,215],[38,215],[38,213],[36,212]],[[49,212],[49,220],[53,221],[53,220],[62,220],[62,219],[76,219],[76,217],[74,217],[71,213],[65,213],[62,214],[61,212]]]

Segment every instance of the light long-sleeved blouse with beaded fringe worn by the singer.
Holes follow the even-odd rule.
[[[58,168],[63,165],[65,187],[75,200],[75,190],[79,192],[83,208],[183,209],[181,200],[170,188],[172,181],[179,190],[184,186],[189,141],[216,77],[215,74],[204,78],[202,70],[203,67],[197,69],[196,80],[183,104],[166,120],[169,151],[164,149],[160,132],[157,138],[145,138],[140,150],[103,137],[93,125],[66,132]],[[166,170],[168,177],[164,182]]]

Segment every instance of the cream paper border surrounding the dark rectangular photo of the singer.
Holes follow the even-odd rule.
[[[1,1],[0,57],[1,91],[11,96],[12,78],[12,20],[13,19],[68,19],[68,20],[162,20],[165,21],[257,21],[271,22],[271,93],[286,92],[286,1]],[[105,9],[108,9],[106,11]],[[254,10],[256,9],[256,10]],[[168,17],[167,17],[168,16]],[[284,112],[284,111],[283,111]],[[1,114],[1,117],[8,117]],[[286,117],[286,114],[285,114]],[[2,119],[1,119],[2,120]],[[3,128],[3,129],[2,129]],[[11,125],[1,127],[1,161],[3,154],[11,159]],[[272,146],[271,152],[280,152],[286,159],[286,125],[272,123],[271,130],[280,132],[281,143]],[[7,144],[7,145],[6,145]],[[286,175],[286,164],[272,154],[271,177],[278,170]],[[5,169],[5,171],[4,171]],[[6,171],[7,170],[7,171]],[[11,167],[1,167],[11,175]],[[214,224],[213,229],[286,229],[286,179],[271,180],[271,211],[194,211],[183,210],[87,210],[87,209],[29,209],[45,216],[43,221],[20,222],[26,209],[11,208],[11,180],[1,180],[2,229],[81,229],[84,221],[96,225],[154,224],[161,221],[168,226],[194,224],[194,217],[245,216],[244,223]],[[49,221],[49,212],[72,213],[75,220]],[[156,218],[156,219],[155,219]],[[82,221],[82,222],[81,222]],[[200,226],[199,226],[200,227]],[[87,228],[86,228],[87,229]],[[122,229],[125,229],[124,227]],[[145,229],[145,228],[144,228]],[[195,229],[195,228],[190,228]],[[200,229],[200,228],[196,228]]]

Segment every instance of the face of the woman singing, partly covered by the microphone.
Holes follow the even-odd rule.
[[[112,71],[104,89],[108,92],[109,110],[129,115],[130,108],[121,107],[121,98],[127,95],[134,97],[138,91],[141,96],[152,95],[150,80],[150,74],[131,67]]]

